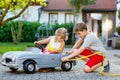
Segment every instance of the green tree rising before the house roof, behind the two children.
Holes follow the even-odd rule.
[[[88,4],[93,4],[95,0],[68,0],[70,6],[74,9],[74,23],[78,18],[82,21],[82,11],[83,7]],[[72,34],[72,43],[74,44],[74,34]]]

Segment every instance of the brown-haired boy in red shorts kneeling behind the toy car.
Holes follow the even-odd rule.
[[[90,54],[93,54],[94,52],[101,52],[104,53],[105,49],[100,42],[100,40],[93,34],[87,31],[87,26],[84,23],[78,23],[74,26],[74,32],[78,35],[79,40],[76,42],[76,44],[73,46],[73,48],[68,52],[70,53],[69,56],[63,57],[62,61],[67,61],[70,58],[73,58],[75,56],[83,57],[88,56]],[[80,46],[80,48],[79,48]],[[95,54],[91,57],[88,57],[87,59],[84,59],[86,61],[86,64],[84,66],[85,72],[92,72],[98,67],[102,66],[103,55],[101,54]],[[104,71],[109,71],[109,62],[104,67]]]

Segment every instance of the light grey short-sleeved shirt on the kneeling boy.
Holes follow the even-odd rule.
[[[101,43],[100,39],[93,33],[89,33],[86,35],[86,37],[83,39],[82,46],[94,51],[105,52],[105,48],[103,47],[103,44]]]

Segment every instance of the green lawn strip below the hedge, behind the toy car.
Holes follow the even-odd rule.
[[[0,54],[8,51],[24,51],[27,47],[33,47],[34,44],[31,42],[13,44],[9,42],[0,43]],[[66,48],[72,48],[72,45],[66,45]]]

